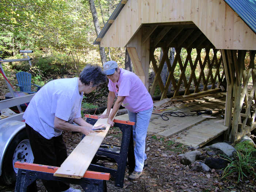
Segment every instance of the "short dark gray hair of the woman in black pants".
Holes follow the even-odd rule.
[[[79,79],[85,85],[90,85],[92,82],[92,86],[95,87],[106,82],[107,76],[98,65],[87,64],[80,73]]]

